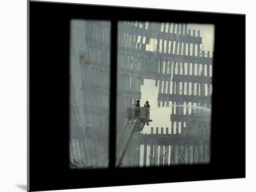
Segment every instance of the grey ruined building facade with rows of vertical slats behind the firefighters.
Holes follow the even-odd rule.
[[[84,27],[85,49],[79,51],[79,59],[84,118],[90,126],[79,128],[80,117],[71,110],[70,153],[76,162],[103,167],[108,160],[111,118],[111,23],[90,20]],[[153,41],[152,51],[148,47]],[[200,45],[200,31],[191,31],[184,23],[118,22],[117,134],[127,119],[127,107],[141,98],[144,79],[155,80],[158,107],[171,106],[170,126],[151,128],[151,134],[136,133],[123,166],[139,166],[141,161],[141,166],[210,161],[211,114],[204,109],[211,108],[213,54]],[[75,109],[72,86],[70,96]],[[80,134],[72,134],[74,128]]]

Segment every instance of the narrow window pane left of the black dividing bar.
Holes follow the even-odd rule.
[[[71,20],[70,167],[108,161],[110,22]]]

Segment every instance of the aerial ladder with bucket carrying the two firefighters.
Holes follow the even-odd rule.
[[[152,120],[149,119],[148,107],[127,108],[127,115],[127,120],[116,140],[115,167],[120,167],[122,165],[122,160],[135,131],[142,131],[146,123],[152,122]],[[109,160],[106,168],[108,167],[108,163]]]

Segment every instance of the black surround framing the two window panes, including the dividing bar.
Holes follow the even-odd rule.
[[[69,170],[70,19],[112,21],[111,117],[117,20],[215,25],[210,164],[115,169],[115,118],[110,118],[111,167]],[[30,191],[245,177],[245,15],[29,1],[28,27]]]

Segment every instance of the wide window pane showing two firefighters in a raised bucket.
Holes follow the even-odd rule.
[[[117,167],[210,162],[213,46],[213,25],[118,23]]]

